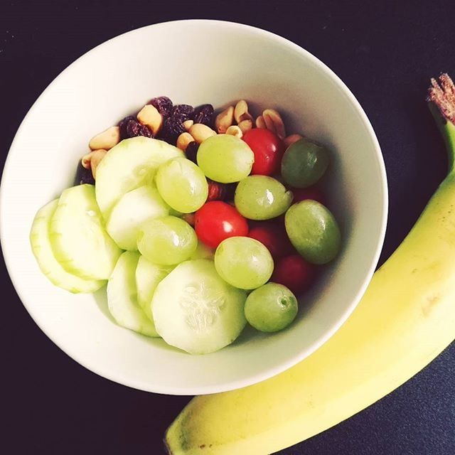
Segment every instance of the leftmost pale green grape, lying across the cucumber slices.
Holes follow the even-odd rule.
[[[139,252],[155,264],[179,264],[189,259],[197,246],[196,232],[175,216],[150,220],[137,236]]]

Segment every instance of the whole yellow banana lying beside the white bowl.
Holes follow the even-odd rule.
[[[429,92],[443,113],[450,101],[447,80],[441,76],[444,90],[432,80]],[[448,145],[449,173],[409,235],[375,272],[352,316],[319,350],[284,373],[244,389],[193,398],[166,432],[169,454],[279,451],[392,392],[454,340],[455,126],[435,117]]]

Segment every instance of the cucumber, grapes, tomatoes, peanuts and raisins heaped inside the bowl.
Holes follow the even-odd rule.
[[[119,326],[187,353],[228,346],[246,323],[287,328],[341,248],[320,201],[331,152],[286,136],[275,109],[155,97],[88,149],[76,185],[38,210],[33,255],[68,291],[107,282]]]

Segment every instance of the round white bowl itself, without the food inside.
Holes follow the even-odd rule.
[[[36,210],[73,184],[97,132],[151,97],[221,107],[245,98],[282,112],[289,133],[333,150],[330,207],[343,250],[301,302],[295,323],[263,335],[245,329],[231,346],[188,355],[117,326],[105,290],[72,295],[41,274],[28,233]],[[385,234],[387,186],[378,140],[346,85],[317,58],[267,31],[220,21],[175,21],[118,36],[63,71],[31,107],[1,182],[1,245],[31,317],[70,357],[130,387],[193,395],[244,387],[286,370],[348,318],[373,274]]]

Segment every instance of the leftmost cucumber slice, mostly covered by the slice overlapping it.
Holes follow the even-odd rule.
[[[105,281],[82,279],[66,272],[55,256],[50,246],[50,219],[57,208],[58,199],[51,201],[38,210],[30,232],[30,243],[33,255],[36,257],[41,272],[55,286],[77,294],[78,292],[95,292],[105,285]]]

